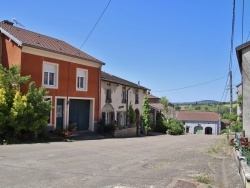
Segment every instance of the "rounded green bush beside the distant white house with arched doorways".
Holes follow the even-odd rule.
[[[184,126],[178,119],[171,118],[167,123],[168,132],[171,135],[181,135],[184,133]]]

